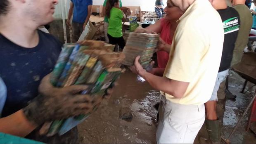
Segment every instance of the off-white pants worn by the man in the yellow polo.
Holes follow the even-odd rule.
[[[183,105],[160,96],[159,123],[156,131],[158,144],[194,143],[205,120],[204,104]]]

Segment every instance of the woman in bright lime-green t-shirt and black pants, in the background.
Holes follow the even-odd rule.
[[[123,12],[119,8],[119,0],[107,0],[106,16],[109,21],[107,36],[109,43],[112,45],[118,44],[119,48],[123,50],[126,43],[123,39],[122,21],[125,21],[125,17],[123,17]]]

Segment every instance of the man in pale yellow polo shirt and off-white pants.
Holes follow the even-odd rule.
[[[135,59],[130,69],[161,91],[157,143],[193,143],[205,120],[207,102],[216,81],[224,31],[218,12],[208,0],[168,0],[183,16],[170,47],[163,77],[147,72]]]

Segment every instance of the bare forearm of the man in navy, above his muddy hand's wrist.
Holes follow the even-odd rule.
[[[0,132],[10,135],[25,137],[36,127],[36,125],[26,119],[23,110],[19,110],[5,118],[0,118]]]

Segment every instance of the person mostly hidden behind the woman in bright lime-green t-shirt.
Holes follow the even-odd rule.
[[[107,28],[109,26],[109,21],[108,21],[108,18],[106,16],[106,5],[107,5],[107,0],[104,0],[102,14],[105,17],[104,18],[105,42],[109,43],[109,38],[107,37]],[[122,1],[121,0],[119,0],[119,9],[121,9],[125,14],[130,15],[130,8],[129,7],[122,7]]]

